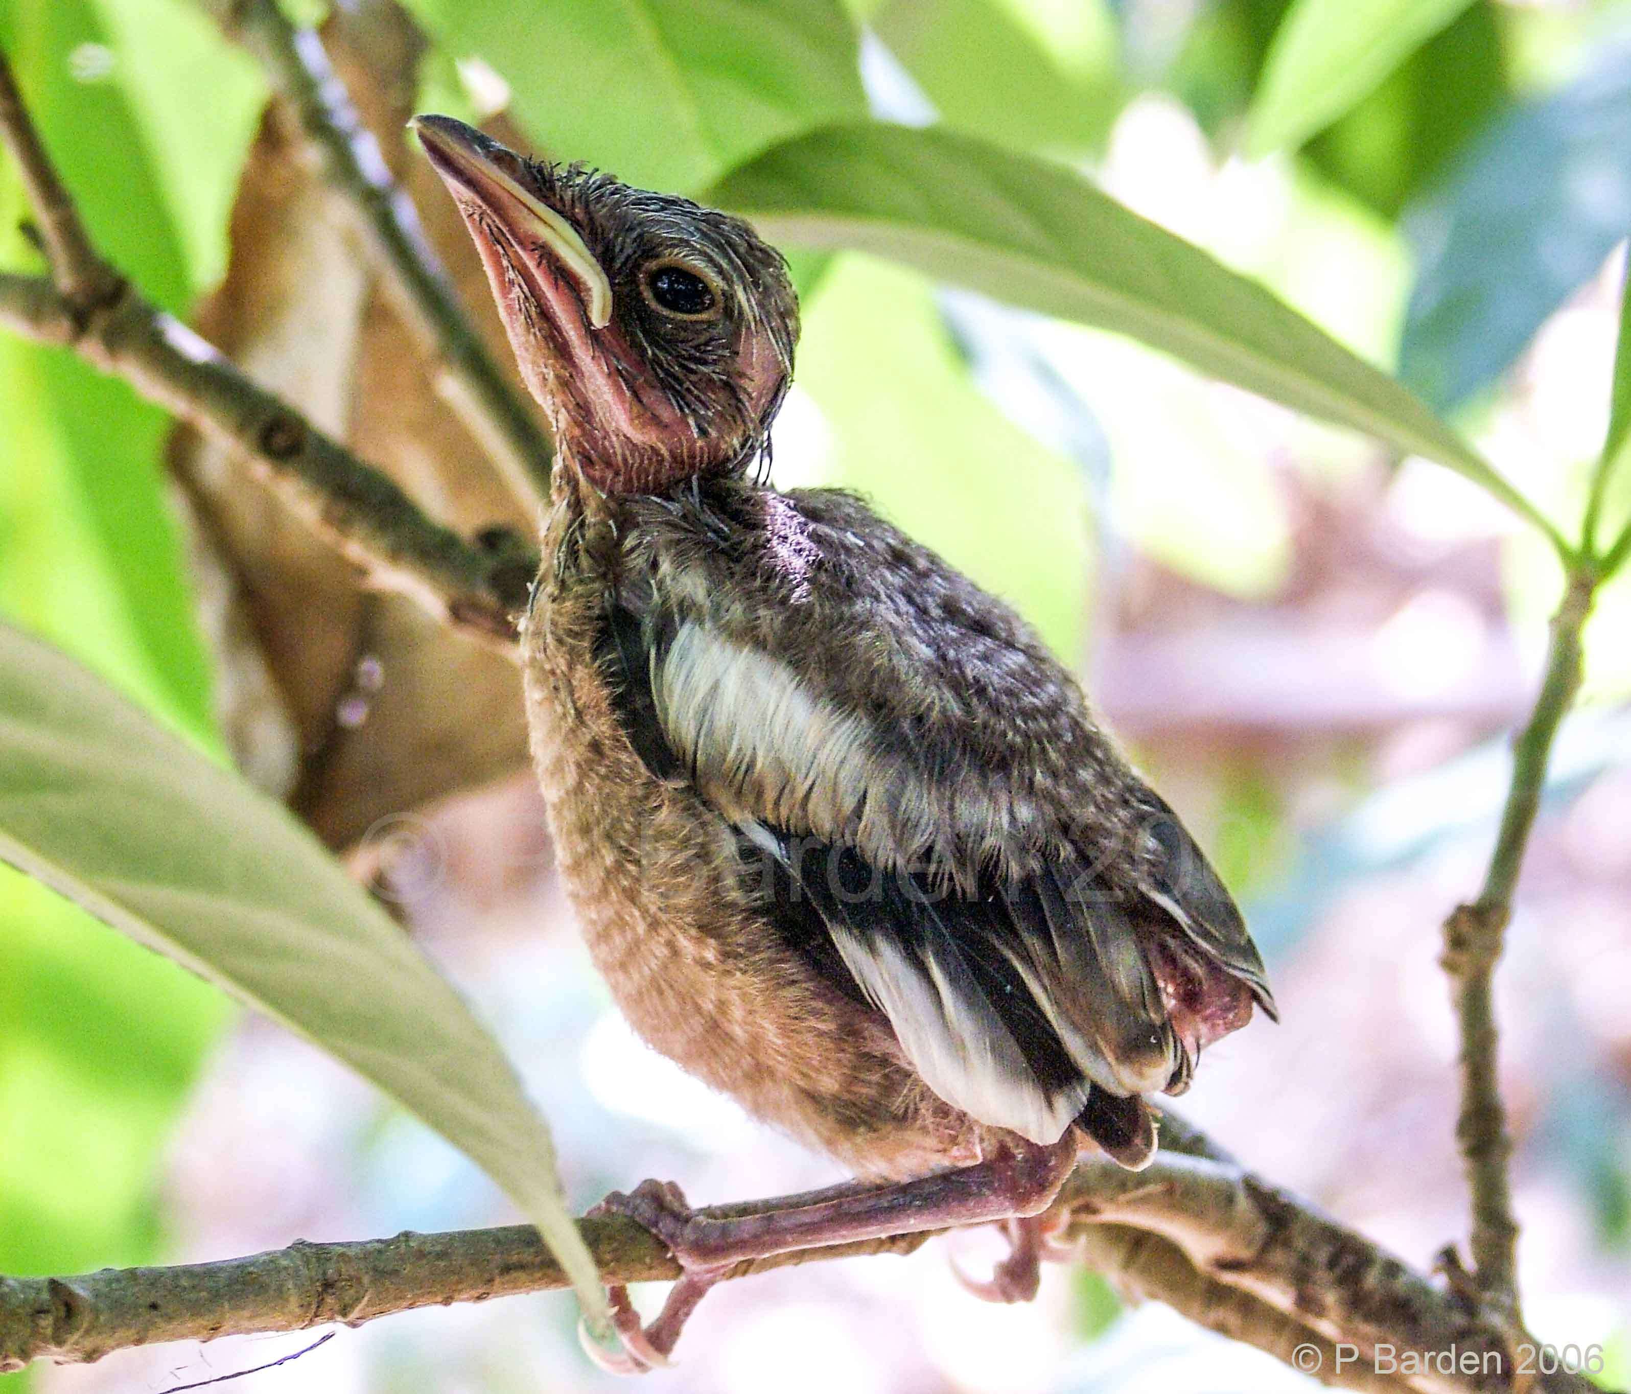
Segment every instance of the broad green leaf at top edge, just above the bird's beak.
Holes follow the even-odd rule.
[[[476,55],[551,158],[696,189],[799,130],[866,111],[837,0],[408,0]]]

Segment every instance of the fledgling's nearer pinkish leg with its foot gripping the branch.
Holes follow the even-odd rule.
[[[643,1224],[685,1272],[662,1312],[644,1329],[626,1291],[613,1288],[618,1334],[630,1358],[602,1363],[621,1373],[665,1365],[703,1293],[749,1259],[1039,1215],[1059,1195],[1076,1151],[1078,1140],[1070,1132],[1052,1146],[1016,1143],[987,1161],[917,1180],[843,1182],[718,1210],[692,1210],[678,1187],[656,1180],[630,1195],[613,1192],[597,1210]]]

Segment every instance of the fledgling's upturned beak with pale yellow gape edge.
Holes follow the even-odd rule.
[[[551,205],[527,161],[450,116],[416,116],[408,124],[465,214],[494,293],[502,276],[517,272],[556,323],[581,320],[603,329],[612,321],[612,282],[571,218]],[[563,302],[568,289],[576,307]]]

